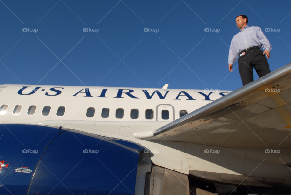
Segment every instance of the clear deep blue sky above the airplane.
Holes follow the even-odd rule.
[[[237,62],[230,73],[227,61],[236,16],[261,27],[274,71],[291,62],[290,12],[288,0],[1,0],[1,84],[235,90]]]

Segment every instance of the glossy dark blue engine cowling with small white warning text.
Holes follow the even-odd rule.
[[[1,124],[0,137],[0,194],[135,193],[135,143],[24,124]]]

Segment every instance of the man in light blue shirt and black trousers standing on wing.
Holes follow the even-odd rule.
[[[240,32],[231,40],[228,69],[233,71],[233,63],[239,57],[239,74],[243,85],[246,85],[254,80],[253,68],[259,77],[271,72],[265,54],[269,59],[272,46],[260,27],[248,26],[248,17],[245,15],[236,17],[236,25]],[[264,52],[260,48],[263,48]]]

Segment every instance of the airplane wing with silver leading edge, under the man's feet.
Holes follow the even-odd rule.
[[[291,63],[135,137],[231,148],[291,147]]]

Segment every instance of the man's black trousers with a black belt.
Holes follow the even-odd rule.
[[[259,48],[246,51],[245,55],[239,57],[237,62],[243,85],[254,81],[253,68],[255,68],[260,78],[271,72],[267,59]]]

